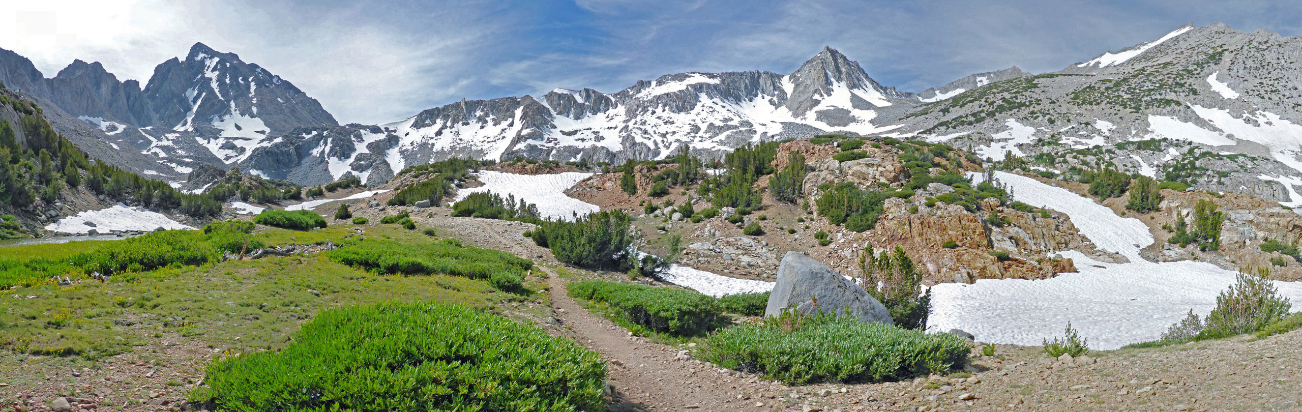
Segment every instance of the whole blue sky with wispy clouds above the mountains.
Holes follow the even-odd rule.
[[[823,46],[921,91],[1012,65],[1057,70],[1187,22],[1298,35],[1302,3],[51,0],[0,10],[0,48],[46,76],[82,59],[146,81],[203,42],[294,82],[342,123],[385,123],[462,98],[789,73]]]

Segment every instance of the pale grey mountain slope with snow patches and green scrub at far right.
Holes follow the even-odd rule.
[[[897,137],[971,149],[1029,169],[1116,167],[1198,189],[1302,205],[1302,38],[1182,26],[1056,73],[926,103]]]

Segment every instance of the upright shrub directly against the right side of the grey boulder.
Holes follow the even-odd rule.
[[[922,274],[913,259],[898,245],[894,253],[872,253],[872,245],[863,246],[859,272],[865,291],[891,312],[894,325],[904,329],[926,329],[931,316],[931,289],[922,287]]]

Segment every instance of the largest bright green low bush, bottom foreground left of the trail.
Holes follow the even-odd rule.
[[[322,312],[279,352],[207,369],[223,411],[604,411],[595,352],[504,317],[436,302]]]

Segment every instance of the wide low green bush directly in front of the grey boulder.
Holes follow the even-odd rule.
[[[881,382],[958,368],[967,342],[853,317],[784,316],[720,330],[706,339],[702,360],[762,373],[786,385]]]

